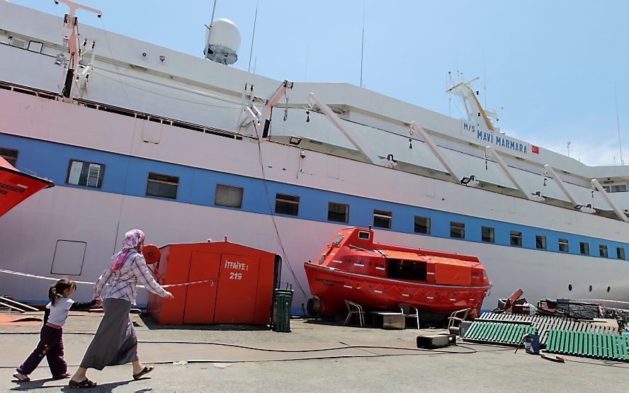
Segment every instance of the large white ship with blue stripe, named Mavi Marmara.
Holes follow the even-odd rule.
[[[628,166],[506,135],[470,82],[446,92],[457,119],[229,67],[227,20],[194,57],[79,25],[100,11],[60,3],[63,18],[0,1],[0,154],[55,182],[0,217],[1,268],[94,281],[129,229],[158,246],[226,236],[283,258],[300,314],[303,263],[371,226],[385,244],[477,256],[485,309],[518,288],[531,302],[629,300]],[[45,301],[47,285],[0,274],[19,300]]]

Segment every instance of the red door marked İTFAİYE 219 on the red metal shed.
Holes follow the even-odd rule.
[[[260,258],[223,254],[220,260],[216,324],[251,324],[256,314]]]

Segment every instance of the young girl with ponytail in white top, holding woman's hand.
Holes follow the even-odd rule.
[[[44,326],[40,334],[40,342],[35,351],[28,356],[22,365],[16,368],[16,377],[19,381],[30,381],[28,375],[37,368],[45,357],[48,367],[52,372],[53,380],[61,380],[70,375],[67,373],[68,365],[63,360],[63,329],[69,310],[89,308],[97,304],[97,300],[91,302],[77,303],[70,299],[77,284],[67,278],[62,278],[55,285],[51,285],[48,290],[47,304],[44,310]]]

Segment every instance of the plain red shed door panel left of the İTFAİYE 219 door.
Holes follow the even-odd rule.
[[[214,306],[220,254],[193,252],[190,257],[188,283],[201,280],[214,280],[214,283],[188,285],[186,305],[183,308],[184,324],[213,324]]]

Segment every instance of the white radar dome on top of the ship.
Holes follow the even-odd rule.
[[[205,57],[220,63],[234,64],[238,59],[240,31],[234,22],[220,18],[212,22],[211,30],[205,31]]]

